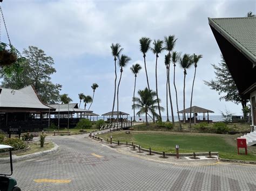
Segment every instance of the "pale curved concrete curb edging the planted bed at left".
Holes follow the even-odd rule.
[[[36,153],[31,153],[31,154],[26,154],[26,155],[21,155],[21,156],[17,156],[15,154],[12,155],[12,162],[18,162],[18,161],[22,161],[22,160],[28,160],[28,159],[32,159],[32,158],[36,158],[36,157],[41,157],[44,155],[48,155],[48,154],[53,154],[56,153],[58,151],[59,146],[52,142],[53,145],[55,145],[51,150],[47,150],[47,151],[40,151],[40,152],[36,152]],[[10,162],[10,158],[9,157],[5,157],[5,158],[0,158],[0,164],[2,163],[9,163]]]

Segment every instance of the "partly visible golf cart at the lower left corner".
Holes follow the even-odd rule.
[[[11,174],[0,174],[0,191],[20,191],[21,188],[17,187],[17,182],[14,178],[11,178],[12,175],[12,156],[11,149],[13,147],[9,145],[0,145],[0,150],[9,149],[10,152],[10,165],[11,165]]]

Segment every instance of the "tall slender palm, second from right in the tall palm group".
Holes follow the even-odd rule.
[[[186,114],[185,114],[185,81],[187,75],[187,69],[191,67],[193,63],[193,57],[189,54],[184,54],[182,58],[179,60],[181,68],[184,69],[184,82],[183,82],[183,124],[186,122]]]

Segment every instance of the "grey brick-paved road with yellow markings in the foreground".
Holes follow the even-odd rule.
[[[84,136],[55,137],[54,142],[60,146],[57,153],[14,163],[22,190],[256,190],[253,165],[166,164],[116,152]]]

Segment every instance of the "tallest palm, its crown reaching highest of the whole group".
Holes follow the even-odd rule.
[[[176,43],[175,36],[170,35],[169,37],[165,37],[165,49],[169,52],[170,60],[171,60],[171,51],[174,48],[174,45]],[[173,115],[173,106],[172,106],[172,96],[171,96],[171,87],[170,87],[170,62],[169,62],[169,67],[167,69],[167,80],[168,80],[168,89],[169,89],[169,98],[170,98],[170,104],[171,104],[171,112],[172,112],[172,124],[175,126],[174,123],[174,115]],[[167,85],[166,85],[167,86]],[[167,96],[167,93],[166,93]],[[167,103],[167,98],[166,98],[166,103]],[[168,106],[167,106],[168,108]]]

